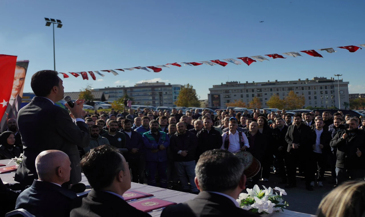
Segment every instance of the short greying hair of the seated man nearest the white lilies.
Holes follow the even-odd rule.
[[[223,192],[237,188],[243,165],[233,153],[214,149],[200,155],[195,174],[202,191]]]

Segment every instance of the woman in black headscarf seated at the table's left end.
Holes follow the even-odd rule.
[[[0,160],[12,159],[20,156],[19,147],[14,146],[15,135],[13,132],[5,131],[0,134]]]

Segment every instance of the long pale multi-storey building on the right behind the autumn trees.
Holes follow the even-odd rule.
[[[209,106],[226,107],[226,103],[241,100],[249,103],[255,96],[260,99],[262,107],[265,108],[266,101],[274,94],[284,99],[290,91],[294,91],[297,95],[303,95],[306,99],[306,104],[303,106],[313,107],[339,107],[344,109],[344,102],[349,102],[349,82],[331,77],[314,77],[313,79],[295,80],[295,81],[267,81],[267,82],[248,82],[241,83],[240,81],[230,81],[226,84],[213,85],[209,88],[208,94]]]

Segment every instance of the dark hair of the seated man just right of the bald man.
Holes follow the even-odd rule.
[[[115,176],[124,171],[123,158],[111,145],[91,149],[81,159],[81,168],[90,186],[101,190],[112,184]]]

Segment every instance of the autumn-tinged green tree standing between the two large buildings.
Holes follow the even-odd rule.
[[[181,88],[180,93],[177,97],[177,100],[174,103],[176,106],[184,106],[184,107],[199,107],[199,97],[196,94],[195,89],[193,89],[193,85],[186,84]]]

